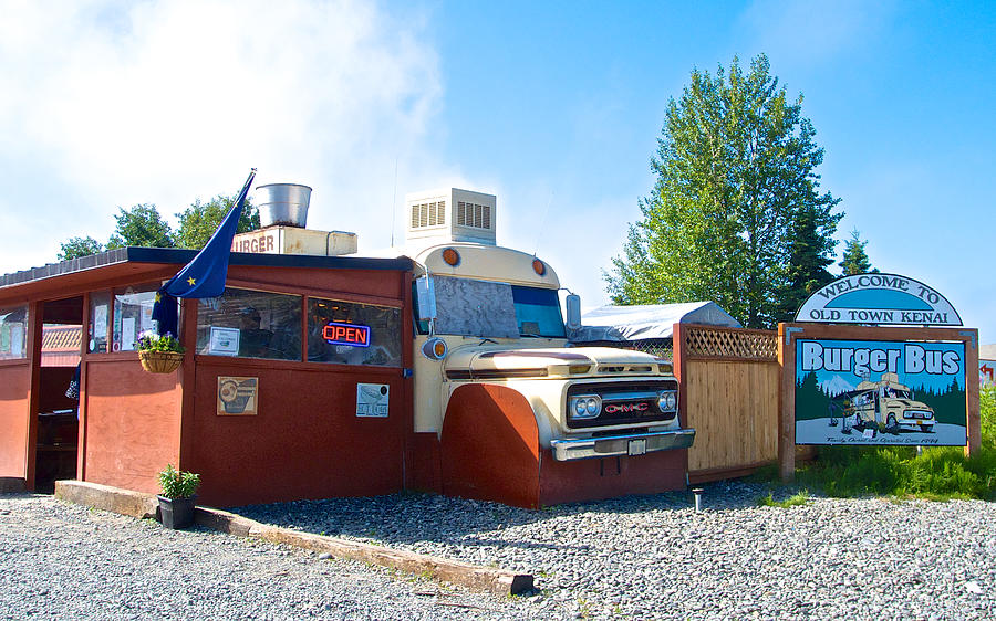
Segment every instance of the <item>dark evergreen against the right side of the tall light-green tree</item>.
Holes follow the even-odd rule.
[[[821,231],[836,228],[840,218],[840,214],[808,208],[800,209],[796,215],[789,241],[788,283],[778,295],[779,322],[791,322],[815,291],[837,278],[827,270],[833,264],[837,240]]]

